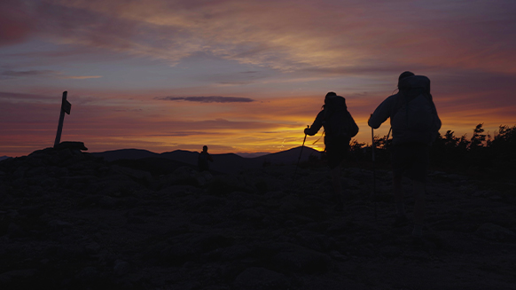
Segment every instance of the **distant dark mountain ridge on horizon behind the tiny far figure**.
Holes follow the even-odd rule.
[[[179,161],[195,167],[197,166],[197,158],[199,156],[198,152],[185,150],[176,150],[167,153],[152,153],[141,149],[121,149],[92,154],[104,157],[104,160],[106,161],[164,158],[170,161]],[[298,160],[307,161],[310,155],[315,155],[318,158],[320,154],[321,153],[317,150],[309,147],[302,147],[302,149],[301,147],[296,147],[286,151],[270,153],[254,158],[244,158],[234,153],[211,154],[214,162],[210,164],[210,169],[223,173],[236,173],[243,169],[260,168],[265,162],[271,164],[294,164]]]

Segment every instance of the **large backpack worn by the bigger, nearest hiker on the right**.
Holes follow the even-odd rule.
[[[430,94],[430,80],[414,75],[402,80],[401,99],[392,114],[393,135],[403,142],[432,144],[441,128],[434,101]]]

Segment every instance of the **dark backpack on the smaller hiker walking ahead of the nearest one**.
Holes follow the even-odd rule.
[[[348,112],[346,99],[340,96],[329,96],[324,99],[324,132],[326,137],[355,137],[358,126]]]

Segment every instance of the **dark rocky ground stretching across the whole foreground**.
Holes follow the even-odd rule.
[[[160,164],[162,167],[163,164]],[[432,172],[422,243],[393,228],[390,173],[156,174],[78,150],[0,162],[1,289],[514,289],[513,183]],[[513,181],[511,181],[513,182]],[[406,184],[411,212],[410,186]]]

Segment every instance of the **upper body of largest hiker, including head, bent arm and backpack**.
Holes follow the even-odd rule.
[[[368,121],[369,126],[378,129],[390,118],[393,145],[432,145],[441,129],[441,120],[430,95],[430,80],[423,75],[410,76],[400,81],[399,89],[376,108]]]

